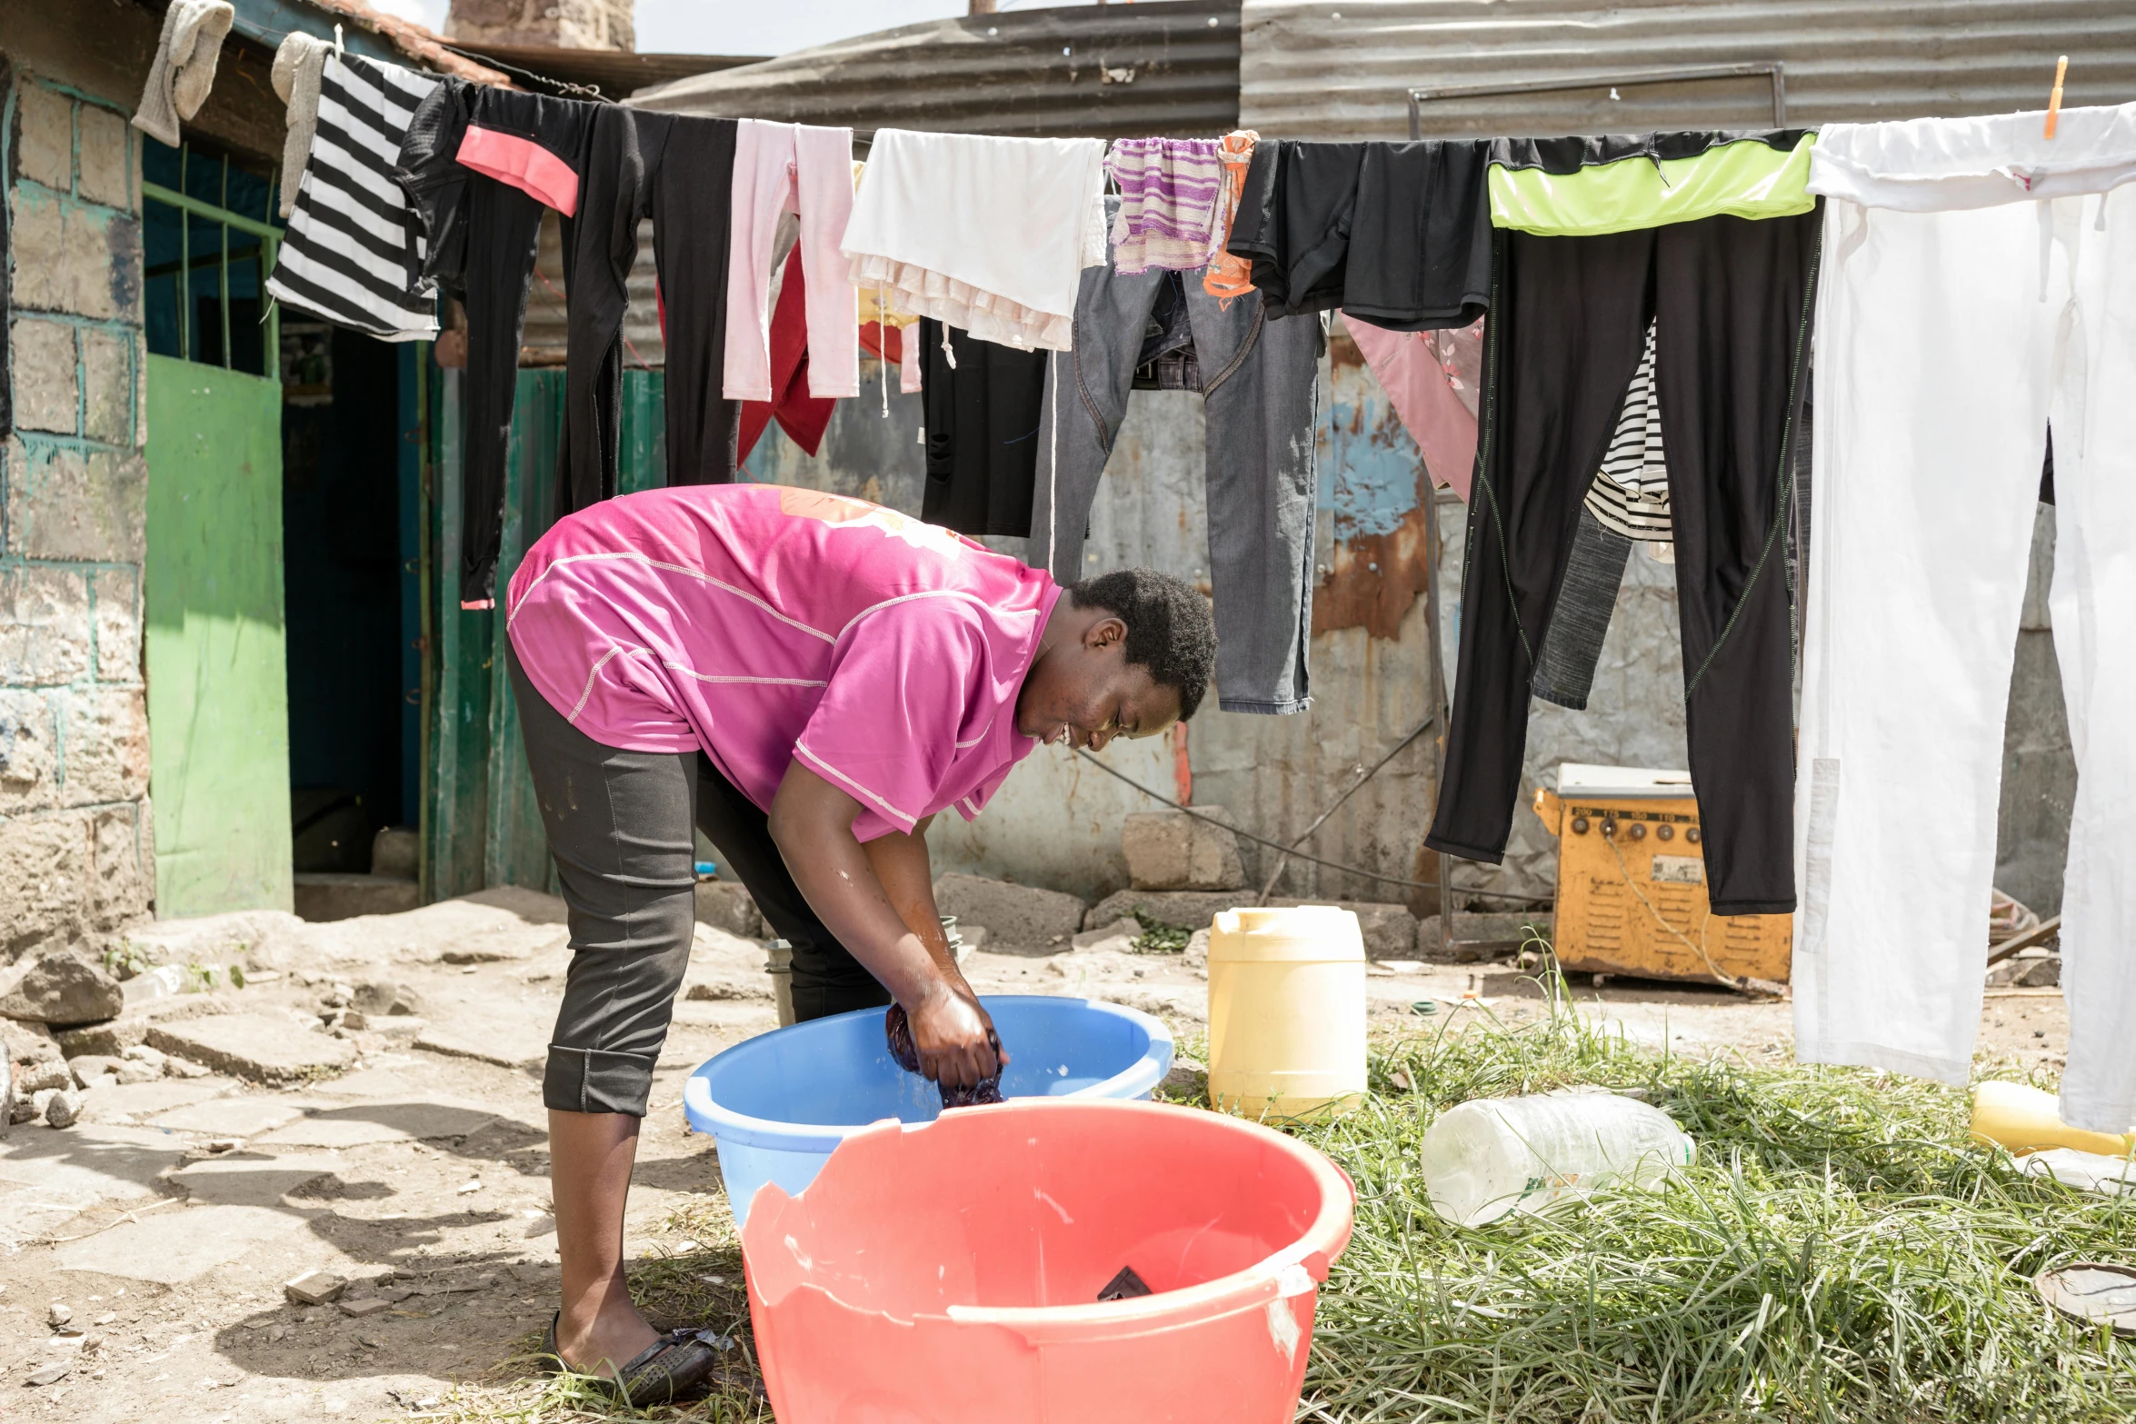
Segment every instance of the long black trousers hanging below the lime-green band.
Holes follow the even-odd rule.
[[[1786,519],[1820,216],[1499,228],[1433,850],[1506,852],[1536,658],[1653,318],[1707,890],[1715,914],[1794,909]]]

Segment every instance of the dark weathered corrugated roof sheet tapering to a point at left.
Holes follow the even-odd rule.
[[[675,113],[1010,137],[1220,135],[1239,0],[1079,4],[901,26],[632,94]]]

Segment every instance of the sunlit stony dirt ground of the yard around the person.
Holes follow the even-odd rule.
[[[540,1061],[568,959],[562,920],[560,901],[491,890],[337,924],[156,927],[169,954],[205,961],[241,944],[267,965],[186,1008],[280,1018],[299,1048],[329,1042],[314,1031],[320,1014],[365,984],[406,986],[417,1014],[344,1023],[355,1059],[301,1087],[231,1072],[107,1085],[83,1123],[17,1125],[0,1140],[0,1420],[374,1420],[523,1398],[515,1356],[555,1309]],[[965,969],[980,993],[1087,993],[1160,1012],[1183,1040],[1200,1031],[1192,952],[1128,954],[1104,935],[1079,946],[980,952]],[[681,1085],[775,1027],[760,963],[758,944],[701,927],[639,1146],[634,1262],[731,1257],[731,1240],[711,1238],[724,1221],[718,1161],[686,1129]],[[1542,991],[1504,965],[1373,965],[1367,986],[1388,1031],[1544,1012]],[[1585,1014],[1655,1046],[1788,1053],[1788,1003],[1593,988],[1585,976],[1574,991]],[[1425,1001],[1429,1014],[1412,1008]],[[1982,1055],[2059,1070],[2066,1044],[2059,991],[1991,991]],[[335,1304],[290,1302],[284,1283],[310,1270],[352,1285]],[[692,1270],[690,1324],[739,1324],[739,1272]],[[85,1334],[53,1332],[56,1302]],[[66,1375],[28,1388],[53,1364]]]

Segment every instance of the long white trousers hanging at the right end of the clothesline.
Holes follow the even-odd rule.
[[[1796,1057],[1963,1085],[2055,431],[2061,1114],[2136,1123],[2136,105],[1824,128]]]

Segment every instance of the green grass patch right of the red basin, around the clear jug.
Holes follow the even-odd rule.
[[[1645,1089],[1698,1164],[1549,1219],[1463,1230],[1431,1211],[1418,1149],[1440,1110],[1572,1082]],[[1961,1091],[1694,1061],[1572,1012],[1384,1040],[1371,1085],[1356,1114],[1299,1132],[1358,1189],[1301,1420],[2136,1415],[2136,1345],[2031,1289],[2074,1260],[2136,1260],[2136,1204],[1969,1146]]]

